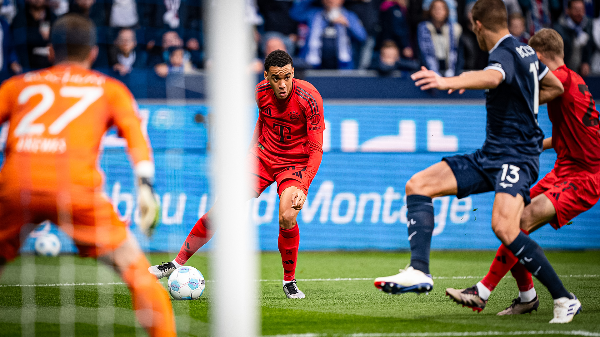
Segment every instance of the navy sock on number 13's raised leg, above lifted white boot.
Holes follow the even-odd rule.
[[[435,227],[433,201],[425,195],[407,195],[408,229],[410,242],[410,266],[429,273],[431,235]]]

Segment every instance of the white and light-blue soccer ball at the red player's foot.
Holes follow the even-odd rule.
[[[173,299],[195,300],[204,292],[204,276],[194,267],[179,267],[169,276],[167,286]]]

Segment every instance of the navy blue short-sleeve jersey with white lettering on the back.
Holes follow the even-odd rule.
[[[490,50],[488,69],[500,71],[502,83],[486,93],[482,150],[511,157],[538,156],[544,140],[538,125],[539,81],[548,67],[539,62],[532,47],[506,35]]]

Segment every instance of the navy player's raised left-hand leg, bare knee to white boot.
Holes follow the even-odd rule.
[[[429,273],[431,236],[435,226],[432,198],[449,194],[457,194],[457,179],[445,161],[416,173],[406,183],[410,266],[396,275],[376,278],[376,288],[391,294],[428,293],[433,289],[433,278]]]

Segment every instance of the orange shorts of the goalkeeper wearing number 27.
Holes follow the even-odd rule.
[[[0,260],[11,261],[29,232],[50,220],[73,237],[83,257],[113,251],[127,237],[109,200],[93,189],[81,191],[26,192],[0,190]]]

